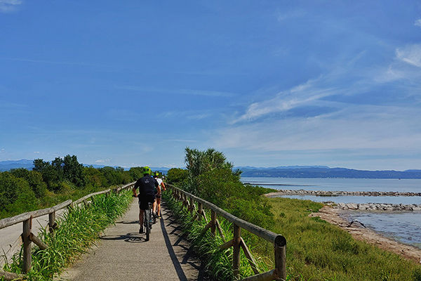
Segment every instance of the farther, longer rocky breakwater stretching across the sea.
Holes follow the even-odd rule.
[[[325,190],[279,190],[267,193],[267,197],[281,195],[314,195],[314,196],[421,196],[421,192],[394,191],[325,191]]]

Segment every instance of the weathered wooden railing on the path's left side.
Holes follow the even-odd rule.
[[[119,188],[114,188],[113,191],[116,193],[121,192],[121,190],[125,190],[128,188],[132,188],[134,183],[128,183],[123,185]],[[56,228],[57,224],[55,223],[55,212],[59,211],[60,209],[65,209],[66,207],[72,208],[81,203],[85,206],[89,204],[88,199],[95,196],[104,194],[109,195],[112,190],[102,190],[99,192],[94,192],[89,195],[81,197],[79,200],[72,202],[72,200],[67,200],[62,202],[54,207],[36,210],[36,211],[28,211],[27,213],[19,214],[18,216],[13,216],[11,218],[4,218],[0,220],[0,229],[6,228],[8,226],[13,226],[17,223],[23,223],[23,231],[20,235],[20,241],[18,242],[18,246],[23,244],[23,273],[27,273],[29,268],[31,268],[32,263],[32,254],[31,254],[31,244],[34,242],[39,249],[44,250],[48,248],[44,242],[42,242],[34,233],[32,233],[32,219],[38,218],[39,216],[45,216],[48,214],[48,231],[51,233]],[[12,253],[13,254],[13,253]],[[6,273],[0,270],[0,277],[4,277],[5,280],[22,280],[25,278],[25,275],[18,275],[15,273]]]

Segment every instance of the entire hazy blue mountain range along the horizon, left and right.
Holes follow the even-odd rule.
[[[25,168],[32,169],[33,160],[22,159],[15,161],[0,161],[0,171]],[[104,165],[83,164],[102,168]],[[113,166],[116,168],[117,166]],[[128,168],[126,168],[128,169]],[[166,172],[171,168],[151,167],[152,171]],[[252,177],[280,177],[280,178],[421,178],[421,170],[406,171],[364,171],[346,168],[329,168],[328,166],[276,166],[276,167],[254,167],[236,166],[234,169],[243,171],[241,176]]]

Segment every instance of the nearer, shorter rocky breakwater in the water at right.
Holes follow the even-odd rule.
[[[356,203],[338,203],[334,204],[333,202],[325,202],[330,204],[335,209],[342,210],[360,210],[360,211],[421,211],[421,204],[378,204],[378,203],[366,203],[366,204],[356,204]]]

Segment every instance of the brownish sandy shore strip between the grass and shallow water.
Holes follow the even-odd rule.
[[[319,217],[328,223],[339,226],[346,230],[356,240],[365,241],[370,244],[375,244],[377,247],[387,251],[393,251],[396,254],[403,256],[406,259],[421,263],[421,249],[410,245],[402,244],[384,237],[370,228],[365,228],[359,222],[349,222],[346,218],[340,216],[340,210],[325,206],[319,210],[318,213],[309,214],[311,217]]]

